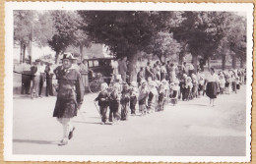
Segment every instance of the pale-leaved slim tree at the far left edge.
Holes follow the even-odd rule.
[[[34,11],[14,11],[14,42],[20,45],[20,63],[25,62],[26,48],[32,42],[32,25],[35,15]]]

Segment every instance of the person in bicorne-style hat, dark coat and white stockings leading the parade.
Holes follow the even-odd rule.
[[[63,127],[63,138],[59,145],[66,145],[73,137],[75,127],[71,124],[73,117],[83,103],[84,86],[79,71],[73,67],[76,60],[71,53],[63,54],[61,74],[59,75],[59,90],[55,104],[53,117]]]

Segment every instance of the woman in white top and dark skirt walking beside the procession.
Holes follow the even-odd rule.
[[[219,77],[215,74],[215,69],[210,69],[210,75],[207,77],[206,95],[210,98],[210,105],[215,106],[215,99],[217,98]]]

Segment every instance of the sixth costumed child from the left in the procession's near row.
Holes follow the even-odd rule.
[[[148,114],[155,112],[158,96],[157,83],[149,82]]]

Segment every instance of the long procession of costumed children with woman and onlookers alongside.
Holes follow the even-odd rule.
[[[118,75],[115,82],[102,83],[101,90],[95,101],[98,102],[101,124],[108,121],[115,124],[119,120],[127,120],[130,114],[139,113],[145,116],[157,111],[163,111],[168,103],[176,105],[178,100],[189,101],[207,95],[210,105],[215,106],[215,99],[219,94],[236,93],[240,85],[246,82],[246,70],[217,71],[209,70],[210,74],[198,67],[195,71],[193,63],[176,66],[171,62],[154,65],[148,63],[137,74],[137,82],[126,82]],[[119,113],[120,109],[120,113]]]

